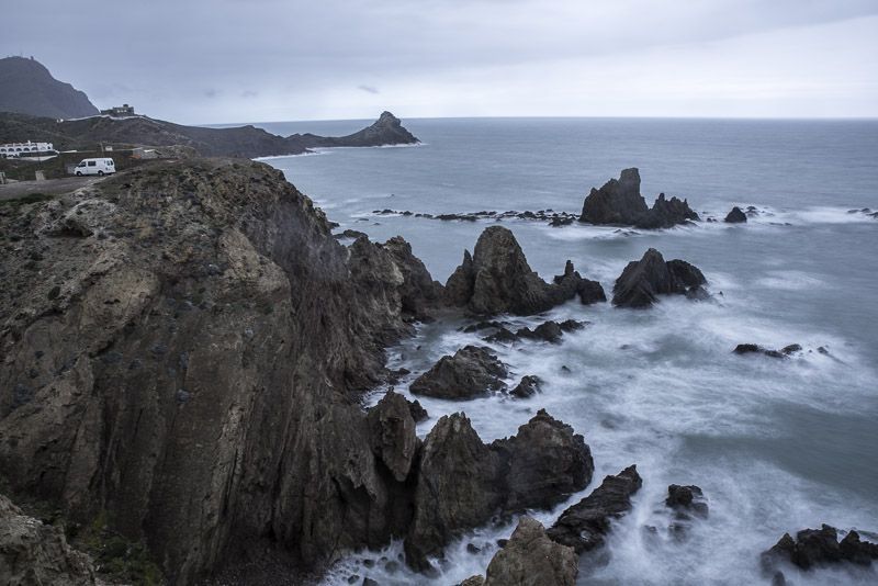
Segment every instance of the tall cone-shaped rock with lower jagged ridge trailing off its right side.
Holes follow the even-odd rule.
[[[603,289],[583,279],[570,261],[563,275],[545,283],[530,269],[513,233],[502,226],[482,233],[474,255],[464,251],[463,262],[446,283],[449,304],[476,315],[532,315],[577,294],[583,303],[593,303],[603,296]]]

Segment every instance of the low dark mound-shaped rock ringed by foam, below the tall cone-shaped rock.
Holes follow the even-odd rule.
[[[439,398],[473,398],[506,387],[506,367],[487,349],[465,346],[443,356],[409,386],[412,393]]]

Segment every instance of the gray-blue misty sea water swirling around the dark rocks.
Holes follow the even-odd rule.
[[[271,132],[346,134],[368,121],[278,123]],[[333,149],[268,160],[341,223],[374,240],[412,243],[444,281],[463,249],[493,221],[378,216],[373,210],[578,212],[592,187],[640,168],[652,203],[662,191],[688,198],[702,218],[732,205],[763,213],[746,225],[699,223],[624,236],[615,228],[505,221],[543,278],[566,259],[609,292],[630,260],[650,248],[698,266],[713,301],[663,300],[649,311],[584,307],[549,314],[590,325],[561,346],[494,346],[514,375],[545,381],[530,399],[424,399],[430,419],[464,410],[485,441],[509,436],[541,407],[585,436],[592,485],[635,463],[644,478],[633,511],[616,523],[609,557],[584,560],[579,584],[759,584],[758,554],[784,532],[826,522],[878,532],[878,122],[710,120],[406,120],[417,147]],[[544,318],[544,317],[543,317]],[[533,324],[536,319],[516,319]],[[419,374],[476,335],[461,324],[424,326],[391,350],[392,365]],[[800,343],[790,360],[739,357],[741,342]],[[418,349],[419,347],[419,349]],[[829,353],[820,353],[823,347]],[[562,365],[570,373],[562,371]],[[397,391],[407,392],[406,380]],[[369,397],[376,402],[383,390]],[[697,484],[708,520],[678,542],[666,528],[667,485]],[[657,532],[644,530],[645,526]],[[386,561],[399,544],[356,552],[326,584],[352,574],[380,584],[457,584],[484,573],[494,541],[514,526],[475,530],[437,561],[427,579]],[[466,544],[482,548],[471,554]],[[369,561],[367,563],[367,561]],[[371,562],[375,562],[372,566]],[[370,567],[371,566],[371,567]],[[391,564],[391,568],[393,564]],[[788,572],[796,584],[878,583],[873,571]]]

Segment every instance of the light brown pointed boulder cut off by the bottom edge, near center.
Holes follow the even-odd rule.
[[[513,537],[491,560],[484,586],[574,586],[578,572],[572,548],[545,537],[539,521],[521,517]]]

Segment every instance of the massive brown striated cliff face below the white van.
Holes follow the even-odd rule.
[[[409,327],[389,251],[349,252],[249,162],[120,173],[0,225],[14,492],[105,515],[180,583],[260,538],[313,566],[401,531],[354,396]]]

